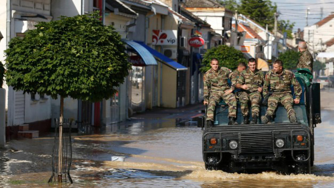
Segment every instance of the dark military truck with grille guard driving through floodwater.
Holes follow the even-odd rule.
[[[228,106],[223,100],[216,106],[212,127],[206,125],[205,116],[199,118],[207,170],[310,173],[314,162],[314,128],[321,123],[320,85],[310,82],[312,74],[308,69],[298,69],[295,77],[302,86],[300,103],[294,104],[297,123],[290,123],[286,109],[279,104],[271,123],[261,124],[260,117],[267,109],[267,106],[261,106],[258,124],[240,124],[243,117],[238,103],[238,125],[227,125]],[[294,96],[293,87],[291,89]]]

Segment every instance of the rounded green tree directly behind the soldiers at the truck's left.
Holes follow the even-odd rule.
[[[215,48],[209,49],[204,54],[202,64],[204,64],[205,67],[200,68],[202,72],[206,72],[211,68],[210,60],[212,58],[218,59],[219,66],[227,67],[231,70],[236,69],[240,62],[247,62],[239,50],[227,45],[219,45]]]

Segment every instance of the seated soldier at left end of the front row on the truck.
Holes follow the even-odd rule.
[[[204,82],[204,105],[208,104],[206,120],[207,125],[213,125],[214,111],[216,104],[222,98],[228,105],[228,118],[229,125],[237,124],[236,118],[236,99],[232,91],[234,85],[228,85],[227,79],[233,77],[232,71],[225,68],[219,67],[218,60],[213,58],[211,60],[211,69],[208,70],[203,77]],[[234,78],[234,77],[233,77]]]

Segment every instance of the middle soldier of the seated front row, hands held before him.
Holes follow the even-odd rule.
[[[248,60],[248,69],[242,71],[236,82],[236,88],[242,89],[239,95],[243,124],[249,124],[248,101],[251,101],[252,121],[257,124],[260,113],[261,92],[264,73],[256,68],[257,62],[254,58]]]

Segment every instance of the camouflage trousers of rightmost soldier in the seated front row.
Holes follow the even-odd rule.
[[[273,93],[268,99],[268,109],[266,115],[274,115],[274,112],[277,108],[277,104],[281,102],[284,108],[288,112],[288,116],[290,117],[292,114],[296,114],[293,109],[293,97],[290,93]]]

